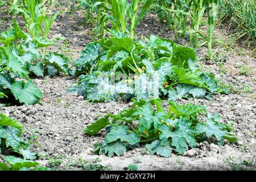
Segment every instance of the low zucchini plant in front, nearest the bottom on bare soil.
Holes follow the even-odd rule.
[[[130,109],[107,114],[83,131],[95,135],[106,128],[105,142],[95,144],[94,153],[108,156],[120,156],[128,149],[146,144],[150,154],[168,158],[172,152],[182,155],[208,138],[214,138],[219,145],[225,139],[237,141],[232,128],[221,122],[219,114],[209,113],[204,106],[169,103],[166,110],[159,99],[134,101]]]

